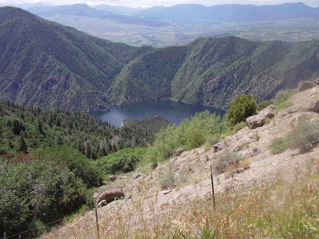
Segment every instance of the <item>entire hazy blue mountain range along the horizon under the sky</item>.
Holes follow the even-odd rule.
[[[170,7],[153,6],[147,9],[107,4],[73,4],[61,6],[33,6],[28,11],[39,16],[54,14],[108,18],[130,24],[149,25],[148,21],[159,23],[194,24],[202,22],[264,22],[287,20],[290,18],[318,18],[319,7],[310,7],[302,2],[277,5],[222,4],[204,6],[200,4],[178,4]],[[146,19],[145,19],[146,18]],[[153,19],[148,20],[147,18]],[[162,23],[163,24],[163,23]]]

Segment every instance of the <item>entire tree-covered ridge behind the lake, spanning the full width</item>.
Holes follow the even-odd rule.
[[[319,76],[319,41],[198,38],[131,47],[13,7],[0,8],[0,99],[27,106],[108,110],[163,98],[228,108]]]

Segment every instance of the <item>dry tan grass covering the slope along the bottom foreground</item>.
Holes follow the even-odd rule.
[[[159,205],[157,197],[138,194],[126,203],[99,211],[100,238],[318,238],[319,158],[290,182],[277,176],[273,183],[230,189],[195,200]],[[50,233],[51,239],[94,239],[94,214]]]

